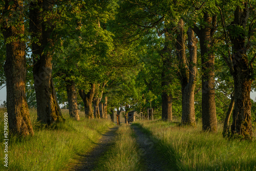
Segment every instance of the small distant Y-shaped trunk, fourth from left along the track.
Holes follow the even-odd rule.
[[[86,117],[89,119],[93,119],[93,96],[95,92],[95,84],[91,83],[91,89],[88,93],[85,93],[84,90],[79,90],[79,95],[82,98],[83,104],[84,104],[84,113],[86,114]]]

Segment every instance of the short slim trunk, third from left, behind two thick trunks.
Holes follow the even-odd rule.
[[[66,80],[66,88],[69,102],[69,115],[75,120],[80,120],[77,108],[76,85],[73,80]]]

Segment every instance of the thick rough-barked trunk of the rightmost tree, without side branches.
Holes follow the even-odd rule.
[[[229,26],[229,36],[232,42],[232,56],[231,56],[231,74],[234,79],[234,109],[233,122],[231,125],[231,134],[244,139],[252,139],[252,124],[251,124],[251,83],[253,75],[252,62],[254,58],[249,61],[247,56],[246,42],[246,25],[250,14],[249,5],[244,3],[244,9],[237,7],[234,12],[234,20]],[[241,31],[243,28],[243,31]],[[234,33],[233,30],[240,31],[239,34]],[[250,34],[250,33],[249,33]]]

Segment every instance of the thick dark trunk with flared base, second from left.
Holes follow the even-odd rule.
[[[41,123],[52,124],[65,120],[61,115],[52,79],[54,26],[50,19],[45,21],[42,16],[42,13],[51,13],[53,4],[39,0],[30,5],[30,31],[32,37],[38,39],[38,42],[32,42],[37,119]]]

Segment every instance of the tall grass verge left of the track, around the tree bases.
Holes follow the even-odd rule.
[[[5,111],[0,112],[4,118]],[[82,113],[81,121],[74,121],[69,118],[68,110],[63,110],[62,115],[65,123],[57,124],[55,129],[41,129],[36,122],[36,111],[31,110],[35,135],[23,139],[13,137],[8,145],[8,168],[1,164],[0,170],[62,170],[67,163],[74,162],[77,155],[90,151],[101,134],[113,125],[109,120],[86,119]],[[3,119],[0,120],[3,137],[4,124]],[[4,144],[0,147],[3,160]]]

